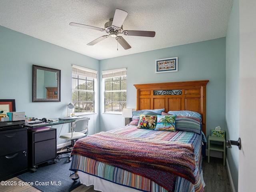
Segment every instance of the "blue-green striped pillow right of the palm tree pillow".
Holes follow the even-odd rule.
[[[162,115],[170,115],[162,111]],[[175,129],[176,131],[189,131],[197,134],[201,134],[202,124],[201,119],[189,116],[176,116],[175,119]]]

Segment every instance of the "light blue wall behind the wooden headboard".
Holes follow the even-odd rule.
[[[226,38],[218,38],[128,56],[100,60],[100,71],[127,68],[127,107],[136,108],[134,84],[209,80],[206,88],[206,134],[216,126],[226,130]],[[178,72],[155,73],[155,60],[178,57]],[[100,77],[100,81],[102,77]],[[102,87],[100,87],[102,88]],[[101,92],[100,92],[101,94]],[[100,95],[100,98],[102,95]],[[101,104],[102,105],[102,101]],[[102,112],[102,111],[101,111]],[[100,130],[118,128],[121,115],[102,114]]]

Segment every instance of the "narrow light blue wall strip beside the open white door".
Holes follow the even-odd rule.
[[[239,2],[234,0],[226,36],[226,139],[239,138]],[[227,149],[227,158],[234,183],[238,191],[237,147]]]

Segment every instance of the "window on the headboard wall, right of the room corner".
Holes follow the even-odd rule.
[[[120,113],[126,108],[126,68],[102,71],[104,112]]]

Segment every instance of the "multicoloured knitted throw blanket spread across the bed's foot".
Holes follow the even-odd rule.
[[[193,184],[195,159],[191,144],[100,132],[78,140],[72,155],[81,155],[150,178],[168,191],[176,176]]]

